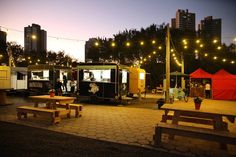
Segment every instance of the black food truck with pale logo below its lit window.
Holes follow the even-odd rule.
[[[79,63],[79,96],[121,100],[129,91],[128,67],[116,63]]]

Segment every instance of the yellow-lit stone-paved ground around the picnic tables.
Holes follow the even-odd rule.
[[[236,156],[236,147],[230,146],[228,151],[219,149],[218,143],[204,140],[196,140],[184,137],[176,137],[173,141],[168,141],[163,137],[162,147],[153,147],[154,128],[161,120],[163,111],[158,110],[155,104],[156,98],[148,95],[140,102],[133,102],[127,105],[114,106],[83,104],[83,113],[80,118],[63,118],[61,123],[51,126],[45,120],[29,117],[26,120],[16,119],[16,106],[28,100],[13,98],[13,105],[0,107],[0,120],[22,125],[39,127],[57,132],[73,134],[92,139],[111,141],[121,144],[136,145],[159,149],[171,153],[185,156]],[[185,103],[175,101],[174,104]],[[188,103],[193,104],[190,99]],[[204,105],[217,104],[230,105],[232,110],[236,110],[236,102],[204,100]],[[32,104],[33,105],[33,104]],[[229,124],[231,132],[236,132],[236,125]]]

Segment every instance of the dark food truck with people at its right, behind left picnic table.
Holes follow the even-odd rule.
[[[58,65],[29,65],[28,91],[30,95],[48,94],[55,88],[57,79],[63,80],[63,74],[71,79],[71,68]],[[67,86],[69,85],[69,81]],[[68,88],[69,89],[69,88]]]

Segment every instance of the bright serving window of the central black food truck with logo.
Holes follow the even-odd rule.
[[[83,81],[111,82],[111,69],[83,70]]]

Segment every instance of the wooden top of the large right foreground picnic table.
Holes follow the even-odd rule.
[[[226,104],[201,104],[200,110],[195,109],[194,103],[179,103],[179,104],[164,104],[161,107],[162,110],[170,111],[186,111],[195,113],[208,113],[217,114],[222,116],[233,116],[236,117],[236,104],[226,105]]]

